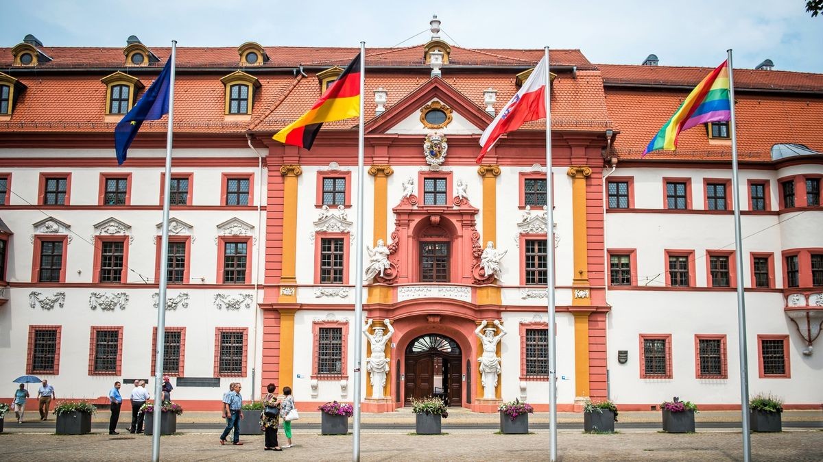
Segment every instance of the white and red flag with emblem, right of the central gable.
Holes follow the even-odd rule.
[[[486,132],[480,137],[480,155],[477,156],[477,164],[483,160],[486,151],[495,146],[495,142],[501,135],[507,132],[514,132],[525,122],[546,117],[546,58],[542,58],[537,63],[537,67],[528,76],[526,82],[502,111],[497,114],[495,120],[491,122]]]

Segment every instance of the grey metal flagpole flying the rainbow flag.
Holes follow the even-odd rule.
[[[751,434],[749,432],[749,367],[746,353],[746,297],[743,292],[743,243],[740,230],[740,178],[737,175],[737,128],[734,121],[734,77],[732,76],[732,50],[728,53],[728,99],[731,108],[732,131],[732,197],[734,201],[734,252],[737,267],[737,336],[740,350],[740,413],[743,425],[743,460],[751,460]]]

